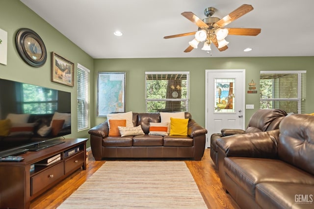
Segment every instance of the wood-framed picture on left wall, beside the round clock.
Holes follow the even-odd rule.
[[[74,86],[74,64],[51,52],[51,81]]]

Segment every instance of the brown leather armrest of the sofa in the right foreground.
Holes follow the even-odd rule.
[[[279,129],[267,132],[227,136],[216,140],[224,157],[276,158]]]

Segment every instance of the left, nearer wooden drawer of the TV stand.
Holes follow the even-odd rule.
[[[37,192],[44,189],[46,186],[49,186],[55,183],[58,179],[63,177],[64,175],[64,168],[63,162],[60,162],[52,167],[48,168],[47,170],[38,173],[31,177],[31,196],[36,194]]]

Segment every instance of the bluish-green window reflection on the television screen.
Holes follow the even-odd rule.
[[[24,114],[54,113],[58,107],[57,90],[52,90],[31,84],[16,84],[16,95],[19,112]]]

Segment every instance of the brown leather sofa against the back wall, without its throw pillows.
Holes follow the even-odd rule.
[[[132,113],[133,126],[141,125],[145,135],[109,137],[107,120],[93,128],[90,144],[95,160],[102,158],[191,158],[201,160],[205,150],[207,130],[198,125],[190,113],[188,136],[148,135],[150,122],[160,122],[159,113]]]

